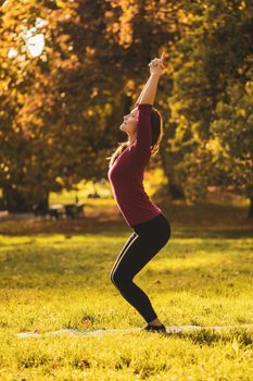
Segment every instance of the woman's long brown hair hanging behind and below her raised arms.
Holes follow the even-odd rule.
[[[160,149],[160,143],[163,138],[163,116],[161,112],[152,107],[151,109],[151,130],[152,130],[152,143],[151,143],[151,157],[154,157]],[[110,160],[109,168],[112,167],[116,158],[128,147],[130,138],[127,142],[117,143],[118,147],[114,152],[106,157]]]

